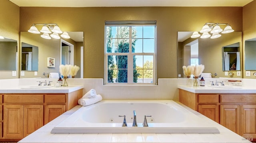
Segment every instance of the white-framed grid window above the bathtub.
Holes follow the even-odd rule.
[[[105,83],[154,84],[156,22],[106,22]]]

